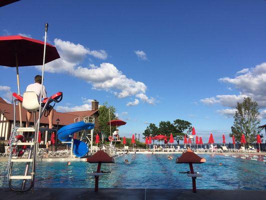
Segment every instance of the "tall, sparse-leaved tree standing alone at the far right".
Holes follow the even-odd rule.
[[[245,134],[247,143],[256,141],[256,135],[261,132],[260,111],[258,103],[251,97],[245,97],[243,102],[238,102],[234,116],[234,124],[231,127],[230,136],[235,135],[237,141],[241,141],[241,135]]]

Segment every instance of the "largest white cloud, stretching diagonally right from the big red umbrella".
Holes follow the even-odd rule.
[[[104,50],[90,50],[81,44],[74,44],[70,41],[54,39],[55,46],[61,56],[46,64],[48,72],[69,73],[92,84],[93,89],[112,92],[118,98],[137,95],[142,101],[154,104],[153,97],[145,94],[147,86],[140,81],[128,78],[122,71],[111,63],[101,63],[99,66],[89,64],[89,67],[82,67],[80,64],[88,54],[105,59],[108,55]],[[138,100],[139,101],[139,100]],[[135,104],[139,102],[135,101]],[[130,103],[131,104],[131,103]]]

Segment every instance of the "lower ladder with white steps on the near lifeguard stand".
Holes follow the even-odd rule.
[[[12,154],[10,152],[10,160],[9,160],[9,187],[13,191],[28,191],[34,186],[34,179],[35,179],[35,166],[36,166],[36,157],[37,157],[37,133],[36,129],[34,127],[19,127],[16,129],[17,132],[34,132],[32,135],[32,139],[30,142],[14,142],[12,145],[20,146],[20,145],[28,145],[29,146],[29,152],[27,155],[27,158],[18,158],[16,154]],[[25,169],[24,174],[19,175],[12,175],[12,169],[14,167],[15,163],[23,162],[25,163]],[[31,166],[31,170],[29,170]],[[12,185],[12,180],[22,180],[21,187],[15,188]],[[30,180],[29,186],[26,188],[26,181]]]

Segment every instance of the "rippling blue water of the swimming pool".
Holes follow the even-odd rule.
[[[176,164],[180,154],[126,154],[115,158],[115,163],[102,164],[102,170],[111,171],[100,177],[100,187],[124,188],[191,188],[192,181],[187,174],[188,164]],[[266,164],[263,161],[240,157],[201,154],[207,162],[194,164],[194,170],[203,174],[197,178],[199,189],[266,189]],[[124,163],[128,159],[130,164]],[[219,165],[222,163],[222,165]],[[14,174],[21,174],[24,165],[18,164]],[[0,185],[6,162],[0,162]],[[87,162],[37,162],[35,187],[94,187],[97,164]],[[5,181],[4,187],[7,187]]]

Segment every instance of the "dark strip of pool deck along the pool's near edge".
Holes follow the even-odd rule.
[[[35,188],[26,193],[0,189],[0,199],[115,199],[115,200],[157,200],[157,199],[265,199],[266,190],[210,190],[199,189],[197,193],[191,189],[128,189],[128,188]]]

